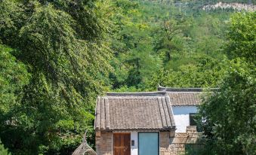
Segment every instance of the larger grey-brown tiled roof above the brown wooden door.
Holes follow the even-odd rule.
[[[175,129],[165,92],[107,93],[97,98],[96,130]]]

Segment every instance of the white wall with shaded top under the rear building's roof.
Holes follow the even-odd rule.
[[[194,105],[190,106],[171,106],[174,112],[175,132],[187,132],[187,126],[190,126],[190,113],[197,113]]]

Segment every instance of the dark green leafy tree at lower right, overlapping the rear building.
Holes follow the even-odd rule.
[[[212,154],[255,154],[255,70],[236,59],[220,90],[200,107],[206,150]],[[202,153],[203,154],[203,153]]]

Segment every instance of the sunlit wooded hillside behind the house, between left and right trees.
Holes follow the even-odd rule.
[[[113,90],[217,87],[224,73],[226,12],[193,11],[167,2],[119,1],[125,10],[113,36]],[[128,10],[128,11],[127,11]]]

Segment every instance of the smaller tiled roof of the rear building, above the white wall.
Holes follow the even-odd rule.
[[[200,105],[202,102],[202,88],[168,88],[158,87],[159,91],[166,91],[171,99],[171,105]],[[211,88],[210,91],[217,90]]]

